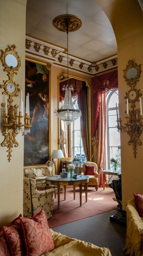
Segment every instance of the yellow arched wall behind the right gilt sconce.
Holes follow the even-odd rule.
[[[137,0],[94,0],[106,13],[113,27],[118,47],[118,85],[119,106],[122,125],[125,123],[126,104],[125,92],[130,90],[123,78],[123,69],[128,65],[128,60],[133,60],[143,69],[143,13]],[[143,74],[135,88],[143,94]],[[141,97],[143,104],[143,96]],[[129,109],[130,108],[129,104]],[[139,103],[135,103],[139,108]],[[127,142],[130,137],[121,133],[121,168],[122,168],[122,201],[123,210],[126,202],[133,198],[133,193],[143,193],[142,180],[142,153],[143,145],[137,146],[136,159],[133,155],[132,145]],[[143,143],[143,134],[140,136]]]

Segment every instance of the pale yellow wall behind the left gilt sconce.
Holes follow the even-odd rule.
[[[0,49],[5,50],[10,45],[15,44],[18,55],[21,58],[21,67],[18,75],[13,80],[19,84],[23,91],[25,88],[25,15],[27,0],[1,0],[0,1]],[[7,73],[3,71],[4,67],[0,61],[0,84],[7,80]],[[4,95],[0,89],[0,111],[1,124],[2,106]],[[20,93],[18,93],[20,94]],[[14,97],[14,104],[19,105],[20,96]],[[20,213],[23,214],[23,143],[24,137],[19,134],[17,137],[19,146],[13,148],[11,161],[8,162],[7,148],[0,146],[0,229],[7,225]],[[2,126],[0,127],[0,142],[3,142]]]

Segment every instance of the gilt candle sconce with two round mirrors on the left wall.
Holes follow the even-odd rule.
[[[2,147],[7,147],[8,150],[8,162],[10,162],[11,157],[11,148],[13,148],[13,145],[15,147],[18,147],[18,143],[16,141],[16,136],[19,132],[24,135],[27,133],[32,127],[30,125],[30,116],[28,115],[28,111],[25,114],[24,117],[24,124],[21,122],[21,118],[23,118],[23,110],[22,110],[22,91],[20,94],[20,106],[19,106],[19,115],[17,113],[18,105],[12,105],[13,102],[12,97],[18,97],[17,92],[20,92],[20,89],[18,88],[19,84],[16,84],[12,78],[14,77],[14,74],[17,75],[17,72],[19,67],[21,66],[21,58],[18,56],[16,52],[16,46],[11,45],[9,48],[6,48],[6,51],[1,50],[1,61],[3,63],[3,66],[5,67],[4,71],[6,71],[8,74],[9,80],[3,81],[4,84],[0,85],[0,88],[4,89],[4,92],[2,94],[5,96],[5,103],[2,103],[2,106],[5,108],[3,111],[3,117],[5,118],[5,123],[3,125],[3,136],[4,141],[1,143]],[[7,96],[9,105],[7,105]],[[23,129],[24,128],[24,129]]]

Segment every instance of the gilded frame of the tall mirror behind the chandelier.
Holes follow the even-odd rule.
[[[67,73],[62,73],[60,77],[58,77],[58,108],[59,108],[59,85],[60,85],[60,80],[62,80],[64,77],[68,77]],[[89,86],[88,80],[81,78],[81,77],[76,77],[72,76],[69,74],[69,78],[74,78],[77,80],[81,80],[86,82],[86,86],[89,88],[89,142],[90,142],[90,159],[91,159],[91,87]],[[58,141],[60,139],[60,120],[58,118]],[[58,144],[58,150],[60,149],[60,145]]]

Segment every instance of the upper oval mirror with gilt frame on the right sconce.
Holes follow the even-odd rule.
[[[136,63],[133,62],[133,60],[128,61],[128,65],[126,65],[126,69],[124,71],[124,78],[125,81],[129,86],[131,86],[132,89],[134,89],[134,86],[136,85],[136,82],[138,81],[138,78],[140,77],[140,65],[137,66]]]

